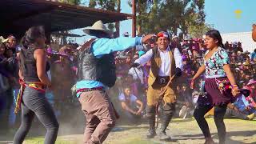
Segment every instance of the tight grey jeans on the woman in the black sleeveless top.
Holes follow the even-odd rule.
[[[58,135],[58,121],[45,94],[26,87],[22,96],[22,123],[14,136],[14,144],[22,144],[37,116],[46,127],[45,144],[54,144]]]

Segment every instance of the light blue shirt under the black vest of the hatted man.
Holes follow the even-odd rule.
[[[104,54],[110,54],[114,51],[122,51],[129,49],[131,47],[142,45],[142,37],[135,38],[97,38],[93,42],[91,46],[91,51],[96,58],[101,58]],[[84,89],[84,88],[94,88],[104,86],[102,82],[98,81],[90,81],[90,80],[82,80],[76,83],[76,90]],[[81,93],[77,93],[77,97],[80,96]]]

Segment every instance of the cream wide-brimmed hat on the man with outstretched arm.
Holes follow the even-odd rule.
[[[87,26],[83,30],[83,32],[90,35],[90,30],[98,30],[98,31],[102,31],[106,34],[112,34],[112,32],[110,30],[107,30],[106,26],[103,24],[103,22],[101,20],[95,22],[93,26]]]

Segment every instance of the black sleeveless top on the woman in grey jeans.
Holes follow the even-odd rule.
[[[24,70],[22,70],[22,75],[25,82],[40,82],[37,73],[36,60],[34,59],[34,50],[21,50],[24,55]],[[46,71],[50,70],[50,63],[46,62]]]

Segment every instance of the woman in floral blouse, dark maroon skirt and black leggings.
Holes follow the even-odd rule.
[[[198,98],[198,106],[194,110],[194,118],[206,138],[206,144],[214,143],[211,138],[210,130],[204,115],[214,107],[214,122],[218,130],[218,139],[220,144],[225,143],[226,126],[223,122],[226,113],[226,106],[234,100],[240,92],[236,85],[234,75],[230,70],[230,59],[223,48],[222,37],[218,30],[210,30],[206,33],[207,51],[204,57],[204,65],[191,80],[191,88],[194,87],[194,81],[204,71],[206,71],[206,80],[204,85],[205,96]]]

